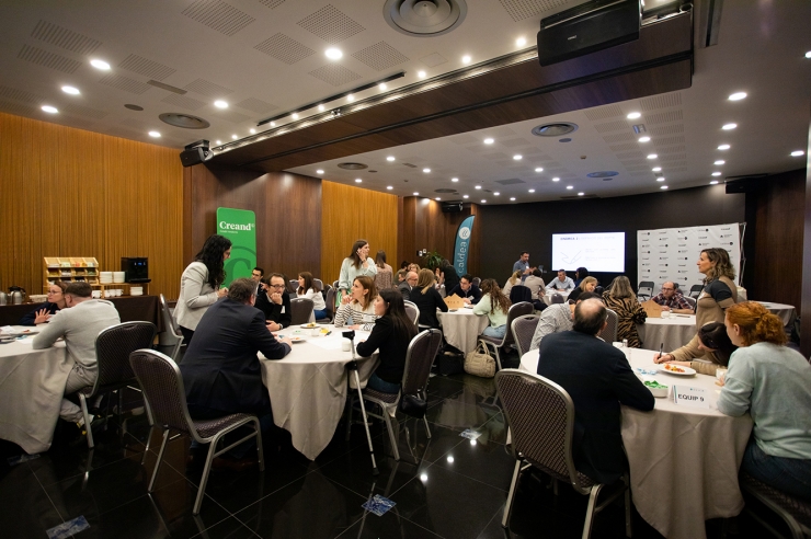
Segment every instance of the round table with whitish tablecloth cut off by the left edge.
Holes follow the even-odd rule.
[[[65,382],[73,367],[65,343],[33,349],[32,341],[27,336],[0,344],[0,438],[13,441],[30,455],[50,447]]]

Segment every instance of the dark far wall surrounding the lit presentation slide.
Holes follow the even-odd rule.
[[[529,263],[542,265],[548,280],[555,270],[549,267],[553,233],[625,232],[625,275],[637,283],[637,230],[743,221],[745,195],[724,191],[723,185],[715,185],[616,198],[481,206],[479,276],[504,282],[521,252],[529,251]],[[595,275],[607,284],[616,274]]]

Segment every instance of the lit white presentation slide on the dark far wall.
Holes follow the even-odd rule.
[[[552,267],[573,272],[625,272],[625,232],[552,234]]]

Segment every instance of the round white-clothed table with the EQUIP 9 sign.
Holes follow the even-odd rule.
[[[653,351],[628,348],[631,368],[656,369]],[[538,351],[521,358],[521,369],[537,372]],[[752,417],[723,415],[715,377],[640,375],[665,386],[701,388],[710,408],[676,404],[672,388],[652,412],[622,406],[622,443],[628,455],[633,504],[642,518],[669,539],[706,537],[704,521],[743,509],[738,470],[752,432]]]

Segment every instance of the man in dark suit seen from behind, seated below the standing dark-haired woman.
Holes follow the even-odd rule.
[[[183,356],[180,371],[186,390],[189,413],[196,420],[232,413],[256,415],[263,431],[273,415],[256,352],[267,359],[282,359],[290,340],[277,341],[265,325],[262,311],[253,307],[256,283],[240,278],[231,283],[228,297],[208,308],[195,337]],[[238,449],[238,448],[235,448]]]

